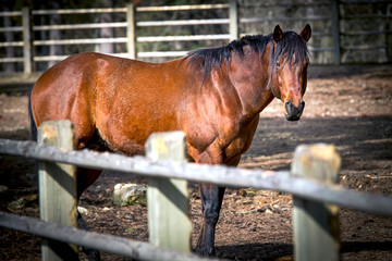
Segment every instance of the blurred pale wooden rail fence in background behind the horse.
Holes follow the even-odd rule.
[[[366,4],[379,5],[380,10],[375,13],[367,13]],[[358,5],[358,7],[357,7]],[[365,14],[356,14],[355,9],[365,10]],[[0,27],[0,72],[21,72],[32,73],[34,71],[46,71],[53,62],[63,60],[70,54],[83,51],[99,51],[97,46],[110,44],[117,45],[113,54],[126,58],[137,59],[161,59],[184,55],[186,50],[166,50],[166,51],[146,51],[142,50],[142,45],[148,42],[198,42],[195,46],[212,45],[211,41],[228,42],[238,36],[246,34],[259,34],[270,32],[273,25],[281,23],[286,25],[287,29],[294,29],[293,25],[310,23],[314,27],[313,39],[310,40],[310,52],[314,63],[346,63],[346,62],[388,62],[391,61],[392,49],[392,28],[391,13],[392,4],[383,0],[330,0],[315,2],[295,2],[291,4],[283,3],[252,3],[236,0],[229,0],[229,3],[221,4],[195,4],[195,5],[172,5],[172,7],[134,7],[127,4],[125,8],[111,9],[75,9],[75,10],[29,10],[24,8],[22,11],[0,12],[3,20],[3,27]],[[195,10],[220,10],[226,12],[224,18],[197,18],[197,20],[170,20],[170,21],[143,21],[137,18],[138,14],[162,13],[162,12],[184,12]],[[224,11],[226,10],[226,11]],[[256,13],[253,11],[257,11]],[[279,11],[272,11],[279,10]],[[287,14],[287,10],[293,14]],[[322,10],[322,11],[320,11]],[[120,21],[110,23],[75,23],[75,24],[42,24],[46,16],[54,15],[93,15],[115,14],[121,16]],[[272,13],[272,14],[271,14]],[[283,16],[283,13],[285,14]],[[304,15],[305,13],[305,15]],[[255,16],[258,15],[258,16]],[[11,17],[19,22],[11,23]],[[362,20],[371,20],[376,29],[360,27]],[[39,22],[38,22],[39,21]],[[34,23],[35,22],[35,23]],[[39,24],[37,24],[39,23]],[[60,23],[60,22],[59,22]],[[353,25],[354,23],[354,25]],[[252,24],[252,27],[249,25]],[[220,25],[225,27],[225,33],[198,34],[198,35],[164,35],[164,36],[142,36],[138,35],[140,28],[152,27],[173,27],[173,26],[203,26],[209,27]],[[284,27],[284,26],[283,26]],[[353,30],[352,28],[356,29]],[[369,27],[369,26],[367,26]],[[102,29],[117,29],[117,37],[111,38],[72,38],[76,33],[83,30],[91,33]],[[252,29],[257,28],[257,30]],[[295,28],[295,29],[301,29]],[[66,39],[48,39],[47,33],[62,32]],[[66,33],[68,32],[68,33]],[[66,34],[65,34],[66,33]],[[189,32],[192,33],[192,32]],[[94,35],[94,34],[93,34]],[[204,42],[204,44],[203,44]],[[354,44],[353,44],[354,42]],[[161,44],[163,45],[163,44]],[[45,54],[48,48],[69,46],[69,53]],[[72,48],[71,48],[72,46]],[[138,47],[138,48],[137,48]],[[140,50],[138,50],[140,49]],[[368,52],[371,51],[369,54]],[[56,51],[53,51],[56,52]],[[359,54],[358,54],[359,53]],[[362,60],[360,53],[368,53]],[[371,60],[376,59],[376,60]],[[23,64],[23,66],[21,66]]]

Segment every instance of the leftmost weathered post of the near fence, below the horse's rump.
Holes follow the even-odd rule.
[[[40,145],[74,149],[74,129],[70,121],[45,122],[38,128]],[[77,226],[76,173],[74,165],[38,163],[40,219],[66,226]],[[78,260],[77,248],[44,239],[42,260]]]

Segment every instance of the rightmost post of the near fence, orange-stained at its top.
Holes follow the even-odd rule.
[[[299,146],[292,175],[334,184],[340,157],[332,145]],[[340,260],[338,207],[293,196],[295,260]]]

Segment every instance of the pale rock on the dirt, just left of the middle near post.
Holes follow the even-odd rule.
[[[139,203],[147,206],[147,188],[137,184],[117,184],[113,192],[113,204],[124,207]]]

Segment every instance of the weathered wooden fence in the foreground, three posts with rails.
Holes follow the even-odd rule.
[[[181,132],[152,135],[146,145],[149,158],[74,151],[70,149],[74,145],[73,127],[69,121],[47,122],[39,127],[38,133],[38,145],[0,139],[0,153],[33,158],[40,162],[40,215],[49,223],[0,213],[0,225],[48,238],[49,241],[42,245],[45,260],[61,260],[61,254],[56,252],[58,246],[54,246],[59,241],[139,260],[156,260],[157,257],[159,260],[196,260],[198,257],[189,253],[191,221],[186,181],[292,194],[296,260],[339,260],[339,217],[335,204],[392,216],[390,197],[357,192],[335,185],[340,158],[333,146],[299,146],[294,153],[291,172],[270,172],[186,163],[186,140]],[[76,216],[74,167],[70,164],[149,177],[147,203],[152,245],[64,226],[75,226]],[[51,196],[44,197],[49,192]],[[166,197],[161,197],[162,194]],[[64,197],[70,200],[63,200]],[[61,203],[57,201],[60,199]],[[53,209],[51,206],[61,210],[50,211]],[[173,229],[168,232],[168,227]],[[112,244],[107,244],[108,240],[112,240]],[[182,252],[176,253],[169,248]],[[66,244],[61,249],[69,249],[66,257],[75,251],[74,247]]]

